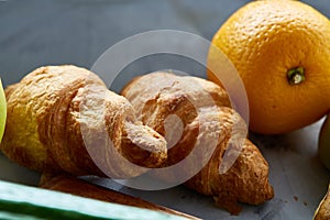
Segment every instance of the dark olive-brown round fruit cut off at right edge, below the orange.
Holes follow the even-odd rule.
[[[319,157],[322,164],[330,169],[330,114],[327,116],[327,119],[321,127],[318,145]]]

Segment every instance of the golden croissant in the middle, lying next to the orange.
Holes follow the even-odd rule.
[[[186,161],[185,166],[156,176],[172,182],[199,168],[185,185],[212,196],[234,215],[241,211],[238,202],[258,205],[274,197],[268,164],[246,140],[244,121],[230,108],[228,94],[219,86],[197,77],[153,73],[134,78],[122,95],[145,125],[165,136],[169,148],[164,166]],[[241,146],[229,144],[231,138],[240,140]],[[196,146],[200,148],[197,153]],[[229,157],[238,157],[230,168],[226,166],[231,163],[223,160],[229,147]]]

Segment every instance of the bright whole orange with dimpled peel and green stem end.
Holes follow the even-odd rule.
[[[329,111],[330,21],[310,6],[289,0],[250,2],[223,23],[212,43],[244,82],[251,131],[289,132]],[[212,50],[208,65],[221,65]],[[208,77],[219,82],[211,72]]]

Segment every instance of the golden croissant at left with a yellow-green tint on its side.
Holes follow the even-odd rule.
[[[125,178],[166,160],[164,138],[136,121],[130,102],[85,68],[41,67],[6,94],[1,151],[23,166]]]

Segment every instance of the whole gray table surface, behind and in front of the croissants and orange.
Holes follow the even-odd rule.
[[[74,64],[90,68],[110,46],[145,31],[180,30],[211,40],[226,19],[248,2],[0,0],[0,76],[7,86],[38,66]],[[304,2],[330,18],[328,0]],[[168,61],[173,62],[172,68],[183,68],[193,75],[205,74],[173,58]],[[144,61],[131,69],[142,74],[155,68],[158,66],[153,61]],[[279,136],[252,136],[270,162],[270,178],[276,196],[263,206],[246,206],[240,217],[229,216],[213,207],[211,198],[183,187],[155,193],[133,190],[107,180],[99,184],[205,219],[311,219],[329,183],[329,172],[316,157],[320,123]],[[24,184],[37,182],[37,174],[15,166],[1,155],[0,166],[0,179]]]

